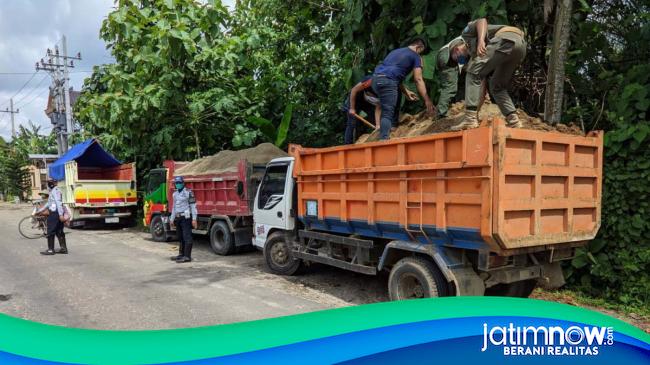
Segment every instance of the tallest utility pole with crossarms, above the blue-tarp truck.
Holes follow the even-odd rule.
[[[68,44],[65,35],[61,38],[62,52],[59,47],[54,46],[54,52],[47,49],[45,58],[36,62],[37,71],[47,71],[52,77],[50,95],[52,97],[53,111],[50,121],[54,124],[54,131],[57,135],[57,147],[59,155],[68,152],[68,137],[74,133],[72,122],[72,107],[70,101],[69,73],[68,68],[74,68],[74,60],[81,60],[81,53],[76,56],[68,56]]]

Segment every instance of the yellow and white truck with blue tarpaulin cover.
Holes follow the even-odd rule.
[[[49,166],[59,181],[63,204],[72,211],[71,225],[131,225],[137,213],[135,164],[123,164],[97,139],[73,146]]]

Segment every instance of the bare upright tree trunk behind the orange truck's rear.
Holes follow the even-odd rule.
[[[552,3],[552,1],[546,0],[545,5],[547,2]],[[555,3],[553,43],[548,65],[544,102],[544,119],[554,124],[561,121],[562,108],[564,106],[564,65],[569,51],[573,0],[557,0]]]

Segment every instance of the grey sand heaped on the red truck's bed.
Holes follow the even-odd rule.
[[[203,175],[237,171],[237,163],[242,159],[253,164],[266,164],[274,158],[286,156],[286,152],[273,144],[262,143],[239,151],[223,150],[216,155],[194,160],[178,169],[176,175]]]

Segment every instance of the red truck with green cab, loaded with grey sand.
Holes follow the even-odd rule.
[[[224,151],[221,155],[209,157],[217,162],[224,159],[233,161],[232,165],[220,170],[203,168],[209,163],[196,161],[192,162],[196,169],[181,174],[179,171],[190,163],[171,160],[165,161],[162,168],[151,170],[144,198],[144,224],[149,227],[152,239],[163,242],[176,238],[169,215],[173,207],[173,179],[182,175],[185,186],[196,197],[198,226],[192,233],[208,235],[210,246],[218,255],[229,255],[251,247],[253,197],[266,163],[278,155],[286,156],[286,153],[265,143],[249,150]]]

